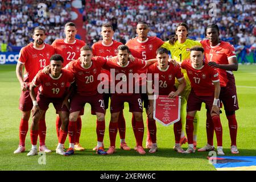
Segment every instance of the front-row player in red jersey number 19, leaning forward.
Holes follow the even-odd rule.
[[[66,85],[75,81],[73,73],[63,67],[63,57],[60,55],[52,55],[50,59],[51,73],[44,74],[39,71],[34,80],[30,84],[30,96],[33,102],[32,124],[30,130],[30,138],[32,143],[31,151],[28,156],[37,155],[38,150],[36,143],[38,142],[38,124],[40,118],[46,114],[49,104],[52,102],[59,114],[62,124],[60,128],[59,144],[56,153],[64,155],[64,142],[67,138],[68,131],[68,101],[64,101]],[[38,95],[36,96],[34,88],[40,86]]]

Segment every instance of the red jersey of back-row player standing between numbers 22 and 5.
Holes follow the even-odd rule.
[[[93,56],[102,56],[102,57],[106,57],[106,58],[111,58],[114,56],[117,56],[117,47],[122,45],[121,42],[117,42],[115,40],[113,40],[113,42],[110,45],[106,45],[102,42],[102,40],[94,43],[92,45],[92,50],[93,50]],[[108,77],[104,78],[104,82],[109,82],[110,85],[110,72],[106,69],[101,69],[101,73],[106,73],[108,75]],[[105,84],[108,85],[108,84]]]

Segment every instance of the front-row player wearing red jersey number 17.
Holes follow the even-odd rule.
[[[217,154],[224,155],[222,150],[222,126],[220,121],[220,108],[218,107],[218,96],[220,95],[220,78],[218,71],[204,63],[204,49],[200,46],[191,48],[190,60],[184,60],[181,68],[188,73],[191,81],[191,92],[188,96],[186,133],[188,137],[188,148],[185,154],[195,152],[193,147],[193,119],[196,111],[201,110],[202,102],[205,103],[213,121],[217,138]]]

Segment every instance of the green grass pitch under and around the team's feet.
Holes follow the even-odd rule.
[[[236,77],[237,94],[240,110],[236,112],[238,121],[237,146],[241,156],[254,156],[256,154],[256,65],[241,65]],[[177,154],[174,146],[173,126],[162,126],[157,123],[157,139],[159,151],[155,154],[139,155],[134,150],[122,151],[119,149],[119,136],[117,135],[117,152],[113,155],[100,156],[92,151],[96,145],[96,117],[90,115],[90,106],[86,105],[82,116],[82,131],[80,143],[85,151],[75,152],[74,156],[61,156],[55,154],[57,137],[55,131],[55,110],[50,105],[46,115],[47,137],[46,144],[52,150],[46,154],[46,164],[39,164],[40,156],[27,156],[30,150],[30,132],[26,138],[26,152],[13,154],[19,143],[19,105],[20,88],[15,76],[15,65],[0,65],[0,170],[215,170],[208,163],[207,152],[196,152],[191,155]],[[134,134],[131,128],[131,113],[125,105],[126,142],[133,148],[135,146]],[[197,136],[197,146],[203,147],[207,142],[205,131],[204,105],[199,112],[200,123]],[[146,123],[146,113],[143,113]],[[109,110],[106,114],[106,131],[104,143],[109,147],[108,125],[110,121]],[[223,147],[226,155],[230,152],[230,137],[228,121],[225,114],[221,114],[223,126]],[[30,120],[31,123],[31,120]],[[146,131],[146,124],[145,124]],[[144,135],[145,143],[146,132]],[[68,146],[68,138],[65,146]],[[214,137],[214,146],[216,138]],[[187,148],[187,144],[183,146]]]

